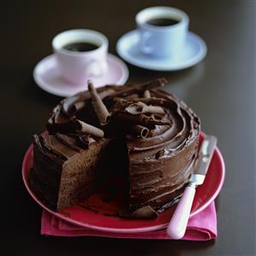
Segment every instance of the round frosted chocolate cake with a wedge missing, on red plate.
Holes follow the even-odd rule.
[[[198,156],[199,117],[174,95],[142,85],[103,86],[65,98],[48,134],[34,135],[29,182],[54,211],[94,193],[119,165],[128,212],[164,211],[181,197]],[[122,169],[122,170],[121,170]]]

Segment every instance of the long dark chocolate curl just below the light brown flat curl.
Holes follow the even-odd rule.
[[[154,128],[155,125],[170,125],[170,122],[162,122],[161,120],[156,120],[152,116],[145,115],[130,115],[126,112],[116,113],[116,118],[121,122],[128,122],[130,124],[140,124],[146,128]]]

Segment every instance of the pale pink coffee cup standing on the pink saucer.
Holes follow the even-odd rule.
[[[64,45],[75,42],[91,43],[98,45],[98,48],[83,52],[63,49]],[[61,75],[68,82],[83,83],[107,72],[109,42],[102,33],[89,29],[68,30],[57,34],[51,45],[56,54]]]

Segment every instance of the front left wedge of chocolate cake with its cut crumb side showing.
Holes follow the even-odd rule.
[[[84,149],[73,136],[34,135],[30,185],[52,210],[74,205],[95,191],[97,169],[110,140],[91,140]]]

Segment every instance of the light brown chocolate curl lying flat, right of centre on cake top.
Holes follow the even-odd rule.
[[[146,114],[146,113],[164,114],[164,109],[162,107],[152,106],[152,105],[148,106],[142,102],[130,104],[125,110],[132,115]]]

